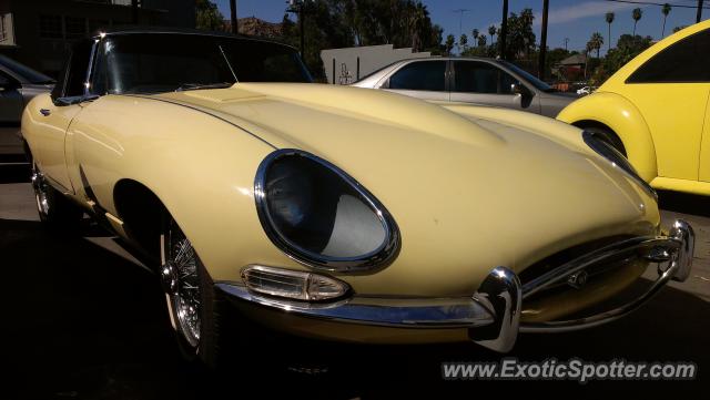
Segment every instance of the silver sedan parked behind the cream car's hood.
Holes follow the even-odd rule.
[[[515,64],[483,58],[403,60],[353,86],[382,89],[429,101],[495,105],[555,117],[575,101]]]

